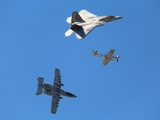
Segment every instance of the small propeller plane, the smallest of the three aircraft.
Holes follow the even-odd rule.
[[[103,59],[103,65],[107,65],[110,60],[116,60],[118,62],[119,55],[117,57],[113,56],[114,49],[111,49],[106,55],[105,54],[99,54],[97,50],[93,50],[92,55],[93,56],[99,56]]]

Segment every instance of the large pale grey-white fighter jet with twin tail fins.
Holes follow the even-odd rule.
[[[71,24],[69,30],[65,32],[65,36],[70,36],[75,32],[78,39],[85,38],[95,27],[102,26],[106,22],[118,20],[122,16],[97,16],[87,10],[72,12],[72,17],[68,17],[66,22]]]

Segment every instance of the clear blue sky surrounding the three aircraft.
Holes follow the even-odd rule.
[[[158,0],[1,0],[0,119],[159,120],[160,2]],[[84,40],[65,37],[66,18],[86,9],[122,19],[95,28]],[[107,66],[93,57],[115,49],[119,62]],[[54,69],[63,97],[51,114],[51,97],[36,96],[37,77],[53,83]]]

